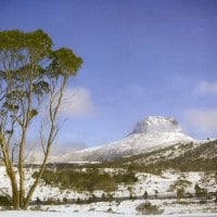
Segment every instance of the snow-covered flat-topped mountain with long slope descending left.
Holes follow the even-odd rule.
[[[184,144],[196,141],[182,132],[181,127],[174,117],[150,116],[139,122],[132,132],[124,139],[102,146],[72,152],[61,157],[51,157],[51,162],[110,161],[162,149],[176,143]]]

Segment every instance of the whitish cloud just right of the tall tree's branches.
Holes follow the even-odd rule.
[[[64,92],[61,112],[67,116],[89,116],[95,108],[86,88],[67,88]]]

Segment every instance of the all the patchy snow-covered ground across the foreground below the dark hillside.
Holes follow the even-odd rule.
[[[27,171],[26,182],[28,184],[33,183],[31,174],[35,169],[29,169]],[[114,169],[107,168],[106,173],[115,173]],[[215,197],[206,200],[202,203],[202,199],[176,199],[177,189],[184,188],[186,193],[193,194],[195,192],[194,187],[197,183],[201,188],[207,189],[208,192],[216,192],[217,186],[215,180],[215,174],[205,173],[174,173],[165,171],[162,175],[151,175],[151,174],[137,174],[138,181],[131,184],[122,183],[118,186],[118,190],[110,192],[113,196],[112,202],[97,202],[90,204],[65,204],[65,205],[36,205],[30,206],[30,209],[47,210],[48,213],[39,212],[37,216],[92,216],[92,217],[106,217],[106,216],[138,216],[137,207],[139,204],[150,201],[152,205],[156,205],[159,209],[164,209],[164,216],[177,216],[177,215],[188,215],[192,216],[217,216],[217,204]],[[5,175],[4,167],[0,167],[0,190],[5,193],[10,193],[10,182]],[[144,192],[148,192],[148,199],[142,199]],[[89,199],[93,194],[97,197],[102,196],[102,194],[107,192],[104,191],[93,191],[90,192],[78,192],[72,189],[60,189],[55,186],[44,184],[42,181],[39,183],[33,200],[37,197],[41,201],[47,200],[84,200]],[[1,193],[0,193],[1,195]],[[129,195],[137,196],[140,200],[127,200]],[[124,197],[125,200],[117,200]],[[170,199],[169,199],[170,197]],[[0,207],[1,209],[1,207]],[[50,213],[52,212],[52,213]],[[58,212],[58,213],[56,213]],[[40,214],[40,215],[39,215]],[[22,212],[0,212],[0,217],[11,217],[11,216],[34,216],[35,213],[22,213]]]

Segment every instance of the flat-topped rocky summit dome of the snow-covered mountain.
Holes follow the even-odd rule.
[[[181,132],[181,127],[174,117],[149,116],[137,123],[131,133]]]

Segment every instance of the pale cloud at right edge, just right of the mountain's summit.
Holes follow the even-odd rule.
[[[189,110],[186,119],[190,127],[203,133],[217,135],[217,110]]]

